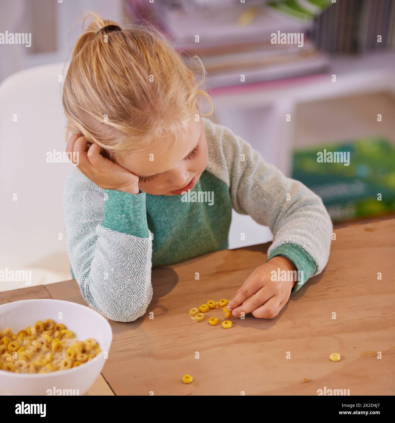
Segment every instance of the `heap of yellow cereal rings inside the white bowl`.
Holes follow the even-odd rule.
[[[15,373],[49,373],[76,367],[100,354],[93,338],[76,340],[64,324],[38,320],[17,334],[0,331],[0,370]]]

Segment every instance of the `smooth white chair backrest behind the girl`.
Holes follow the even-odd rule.
[[[39,283],[68,272],[62,197],[72,164],[49,162],[66,146],[63,66],[25,69],[0,85],[0,269],[48,270],[36,272]]]

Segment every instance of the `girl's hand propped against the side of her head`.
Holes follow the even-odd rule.
[[[103,157],[100,154],[103,148],[97,144],[93,143],[87,148],[87,143],[82,134],[74,134],[66,146],[66,153],[87,178],[104,190],[139,194],[137,175]]]

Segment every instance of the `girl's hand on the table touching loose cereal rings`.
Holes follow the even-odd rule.
[[[272,280],[272,271],[275,271],[277,276],[280,273],[278,269],[280,272],[297,270],[296,266],[283,256],[273,257],[258,266],[229,301],[227,308],[232,310],[232,316],[240,316],[244,312],[252,313],[255,317],[272,319],[278,315],[286,305],[292,287],[297,283],[296,278],[291,281]]]

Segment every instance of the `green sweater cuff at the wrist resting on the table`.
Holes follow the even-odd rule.
[[[270,253],[266,262],[276,255],[282,255],[283,257],[288,258],[288,260],[291,260],[299,271],[298,280],[292,288],[291,294],[298,291],[308,278],[316,272],[317,265],[314,263],[310,255],[298,245],[283,244],[278,246]]]

